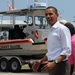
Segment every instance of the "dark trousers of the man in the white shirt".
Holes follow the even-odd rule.
[[[70,65],[68,61],[58,63],[54,69],[49,72],[49,75],[69,75]]]

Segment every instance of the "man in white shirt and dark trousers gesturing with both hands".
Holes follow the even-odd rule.
[[[47,54],[45,57],[33,63],[33,71],[37,71],[40,64],[45,63],[41,72],[49,72],[49,75],[68,75],[68,56],[71,54],[71,35],[67,27],[58,21],[58,11],[50,6],[45,10],[45,16],[50,25],[50,33],[47,39]]]

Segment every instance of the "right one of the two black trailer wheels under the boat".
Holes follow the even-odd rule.
[[[10,71],[16,72],[21,70],[21,65],[18,59],[14,58],[10,60]]]

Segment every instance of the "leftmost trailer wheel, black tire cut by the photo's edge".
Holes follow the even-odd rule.
[[[0,59],[0,69],[1,71],[8,71],[9,69],[9,61],[6,58]]]

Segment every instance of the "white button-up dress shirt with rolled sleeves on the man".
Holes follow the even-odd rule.
[[[47,40],[48,60],[55,60],[60,55],[71,54],[71,34],[69,29],[57,21],[51,28]]]

